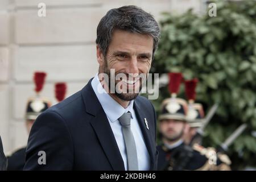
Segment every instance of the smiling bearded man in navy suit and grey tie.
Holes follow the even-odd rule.
[[[98,74],[39,115],[24,169],[155,170],[156,115],[151,102],[138,96],[138,75],[150,71],[158,39],[158,23],[142,9],[108,11],[97,27]]]

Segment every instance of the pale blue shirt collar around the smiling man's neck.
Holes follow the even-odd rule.
[[[100,80],[98,78],[98,73],[96,76],[93,78],[92,82],[92,88],[100,101],[100,104],[105,111],[106,115],[110,119],[110,121],[113,123],[117,121],[119,117],[123,113],[127,113],[130,111],[131,113],[131,118],[133,118],[133,103],[134,100],[131,100],[129,105],[125,108],[123,108],[120,104],[118,104],[117,101],[115,101],[107,92],[106,90],[102,87]]]

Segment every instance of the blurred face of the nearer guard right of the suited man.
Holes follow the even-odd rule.
[[[164,119],[160,121],[159,130],[163,137],[171,142],[179,140],[185,129],[184,121],[176,119]]]

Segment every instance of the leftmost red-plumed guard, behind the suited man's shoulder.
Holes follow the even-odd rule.
[[[31,127],[43,111],[47,110],[51,106],[51,101],[48,98],[40,96],[40,92],[43,89],[44,81],[46,78],[46,73],[44,72],[35,72],[34,73],[34,82],[35,82],[35,97],[28,98],[26,106],[26,128],[28,134],[30,133]],[[20,148],[15,151],[11,156],[7,157],[7,170],[9,171],[19,171],[23,170],[25,164],[26,156],[26,147]]]

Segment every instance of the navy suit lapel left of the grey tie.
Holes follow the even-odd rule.
[[[113,170],[124,171],[125,166],[117,142],[115,141],[113,131],[109,125],[108,118],[92,89],[90,84],[91,81],[92,79],[82,90],[86,112],[93,115],[90,124],[92,125]]]

